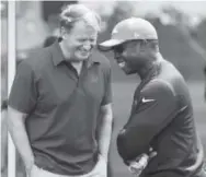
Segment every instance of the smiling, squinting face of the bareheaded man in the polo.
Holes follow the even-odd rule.
[[[98,31],[85,22],[75,23],[73,28],[65,35],[65,44],[70,59],[73,61],[87,60],[96,44]]]

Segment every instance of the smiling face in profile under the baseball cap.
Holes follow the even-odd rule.
[[[140,42],[133,40],[126,42],[113,48],[114,58],[118,67],[126,73],[137,73],[138,69],[145,62],[144,55],[141,54]]]

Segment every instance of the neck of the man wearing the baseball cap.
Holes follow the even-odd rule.
[[[161,60],[163,60],[163,58],[160,52],[156,54],[152,59],[147,60],[138,71],[140,79],[144,80],[150,72],[156,72],[157,66]]]

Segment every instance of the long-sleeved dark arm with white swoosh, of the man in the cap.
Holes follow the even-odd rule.
[[[134,105],[131,111],[117,137],[117,150],[126,164],[148,153],[152,139],[171,122],[175,113],[175,96],[165,83],[153,82],[142,91],[139,103]]]

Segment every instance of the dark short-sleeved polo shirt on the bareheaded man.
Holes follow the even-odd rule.
[[[98,161],[99,111],[111,97],[108,60],[94,51],[78,75],[56,42],[19,64],[9,105],[27,114],[26,131],[38,167],[82,175]]]

